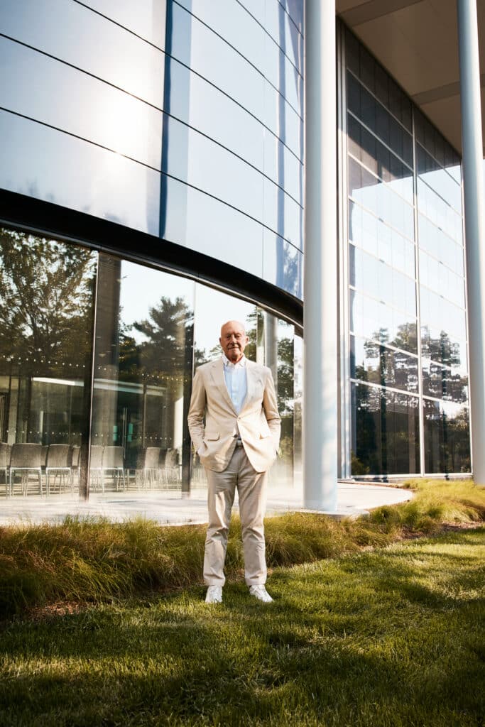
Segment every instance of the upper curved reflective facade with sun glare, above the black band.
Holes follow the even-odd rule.
[[[302,297],[302,32],[296,0],[7,0],[1,187]]]

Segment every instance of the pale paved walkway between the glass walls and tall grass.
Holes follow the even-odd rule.
[[[190,497],[181,497],[177,491],[111,492],[92,494],[88,502],[77,496],[49,495],[49,497],[0,497],[0,525],[18,523],[58,523],[66,515],[105,517],[121,522],[136,517],[148,518],[161,524],[207,523],[206,491],[195,490]],[[380,505],[396,505],[412,498],[412,493],[396,487],[339,483],[338,517],[361,515]],[[305,511],[300,489],[286,489],[268,493],[268,515]]]

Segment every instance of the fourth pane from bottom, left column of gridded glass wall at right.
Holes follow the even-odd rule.
[[[406,310],[413,317],[417,315],[414,280],[353,245],[349,248],[349,281],[388,305]]]

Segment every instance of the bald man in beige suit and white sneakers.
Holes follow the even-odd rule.
[[[223,356],[199,366],[193,379],[188,428],[207,473],[204,581],[207,603],[221,603],[231,508],[239,494],[244,577],[249,593],[263,603],[265,588],[265,489],[281,430],[271,371],[244,356],[248,337],[239,321],[220,330]],[[205,415],[205,428],[204,428]]]

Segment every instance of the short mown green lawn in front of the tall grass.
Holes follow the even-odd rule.
[[[482,526],[274,569],[269,605],[234,581],[17,616],[0,724],[483,727],[484,563]]]

